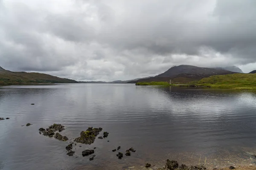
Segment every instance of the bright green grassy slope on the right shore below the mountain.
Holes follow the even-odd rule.
[[[227,74],[203,78],[198,85],[212,88],[256,90],[256,74]]]

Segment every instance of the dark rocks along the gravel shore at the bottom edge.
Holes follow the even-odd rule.
[[[145,167],[150,167],[150,164],[146,164]],[[166,160],[166,165],[164,167],[158,168],[157,170],[206,170],[204,166],[191,166],[188,167],[185,164],[178,164],[177,161]]]

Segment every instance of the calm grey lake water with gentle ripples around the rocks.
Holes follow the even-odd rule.
[[[241,91],[134,84],[0,87],[0,117],[10,118],[0,121],[0,169],[121,170],[167,158],[198,164],[200,156],[207,156],[208,166],[254,163],[249,153],[256,153],[255,104],[255,93]],[[38,133],[53,123],[65,125],[61,134],[69,139],[91,126],[110,134],[77,144],[69,157],[65,147],[72,139]],[[118,146],[123,153],[130,147],[137,152],[119,160],[111,151]],[[93,161],[81,156],[93,147]]]

